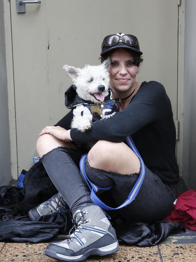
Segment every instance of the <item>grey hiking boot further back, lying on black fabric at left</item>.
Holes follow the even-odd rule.
[[[43,215],[53,214],[55,212],[64,213],[68,208],[67,203],[63,200],[62,195],[58,192],[52,196],[46,202],[37,205],[35,208],[29,211],[29,217],[32,221],[36,221]]]

